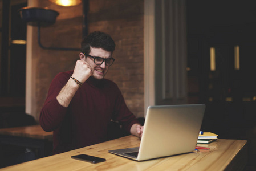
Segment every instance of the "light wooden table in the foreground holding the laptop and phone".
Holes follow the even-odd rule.
[[[219,139],[209,145],[200,144],[210,150],[137,162],[108,153],[108,150],[140,145],[139,138],[126,136],[0,170],[242,170],[247,162],[246,142]],[[102,157],[107,161],[91,164],[71,158],[78,154]]]

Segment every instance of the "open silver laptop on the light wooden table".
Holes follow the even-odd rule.
[[[192,152],[204,112],[205,104],[149,106],[140,147],[108,152],[136,161]]]

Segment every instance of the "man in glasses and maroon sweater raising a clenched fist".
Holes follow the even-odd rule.
[[[61,72],[52,80],[40,112],[44,131],[54,131],[54,154],[105,141],[111,120],[119,121],[132,135],[143,133],[117,85],[104,79],[115,61],[111,36],[92,32],[82,41],[81,50],[74,71]]]

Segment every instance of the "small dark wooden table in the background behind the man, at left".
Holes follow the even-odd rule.
[[[37,158],[46,156],[46,146],[52,144],[52,132],[45,132],[40,125],[0,129],[0,144],[36,148]]]

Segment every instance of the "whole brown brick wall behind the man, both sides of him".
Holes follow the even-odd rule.
[[[40,7],[49,7],[60,13],[50,27],[41,28],[44,46],[80,48],[82,40],[82,5],[60,7],[48,1],[38,1]],[[137,117],[144,116],[144,1],[91,0],[88,13],[89,32],[107,32],[116,42],[106,78],[119,86],[124,99]],[[37,38],[35,38],[37,39]],[[72,70],[79,59],[79,51],[55,51],[35,48],[36,119],[46,99],[48,87],[56,74]]]

